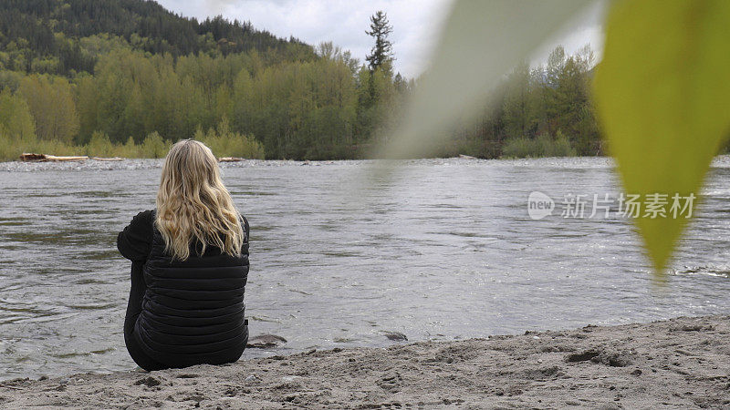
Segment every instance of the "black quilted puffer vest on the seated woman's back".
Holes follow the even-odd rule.
[[[151,220],[155,218],[151,212]],[[152,226],[150,254],[142,268],[146,290],[133,337],[141,350],[170,367],[235,362],[248,340],[244,292],[248,277],[248,221],[242,256],[218,248],[186,261],[164,252]]]

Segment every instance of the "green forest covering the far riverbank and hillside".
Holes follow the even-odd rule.
[[[369,25],[369,26],[368,26]],[[418,78],[393,73],[393,27],[378,12],[364,62],[221,16],[143,0],[0,3],[0,159],[22,152],[164,156],[198,138],[218,156],[358,159],[397,123]],[[519,65],[484,115],[438,156],[601,155],[586,46]]]

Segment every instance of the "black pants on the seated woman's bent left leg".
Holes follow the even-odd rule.
[[[142,369],[151,372],[153,370],[166,369],[169,366],[161,364],[142,351],[140,343],[134,339],[134,323],[142,311],[142,298],[146,287],[142,277],[141,262],[133,262],[131,266],[131,287],[130,302],[127,303],[127,314],[124,317],[124,344],[127,345],[127,352],[131,359]]]

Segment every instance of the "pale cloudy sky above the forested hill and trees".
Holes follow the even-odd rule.
[[[417,77],[427,66],[433,43],[448,13],[451,0],[157,0],[174,13],[205,19],[223,15],[229,20],[250,21],[260,30],[276,36],[295,36],[318,45],[331,41],[365,61],[372,38],[365,34],[370,15],[382,10],[393,26],[391,43],[395,71]],[[533,64],[547,58],[561,44],[571,53],[590,44],[600,53],[602,6],[590,7],[556,38],[547,39]]]

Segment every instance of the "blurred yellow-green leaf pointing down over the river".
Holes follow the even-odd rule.
[[[627,193],[698,194],[730,124],[728,27],[725,0],[612,5],[594,92]],[[687,220],[636,222],[661,276]]]

